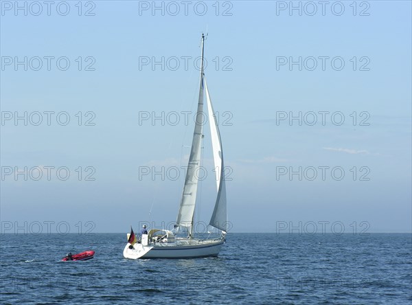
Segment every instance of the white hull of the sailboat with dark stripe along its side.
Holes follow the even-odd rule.
[[[128,243],[124,247],[123,256],[136,260],[137,258],[205,258],[208,256],[218,256],[220,248],[225,240],[192,240],[190,242],[173,242],[148,245],[135,244],[134,249],[130,249]]]

